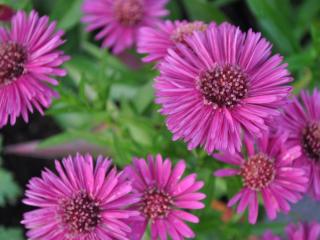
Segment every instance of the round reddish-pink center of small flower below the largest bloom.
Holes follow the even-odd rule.
[[[242,165],[240,175],[245,187],[259,191],[273,181],[274,163],[267,155],[258,153]]]

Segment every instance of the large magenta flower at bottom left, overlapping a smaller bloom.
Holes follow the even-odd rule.
[[[46,169],[32,178],[26,191],[27,212],[22,223],[28,239],[105,240],[129,239],[125,223],[138,212],[128,210],[138,198],[122,172],[111,168],[111,160],[90,155],[68,157],[55,162],[58,175]]]

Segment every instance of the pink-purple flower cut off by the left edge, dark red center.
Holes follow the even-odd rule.
[[[11,29],[0,27],[0,127],[34,108],[43,114],[57,93],[49,85],[57,85],[57,76],[66,75],[59,67],[68,57],[57,50],[63,31],[55,32],[56,23],[19,11],[11,20]]]

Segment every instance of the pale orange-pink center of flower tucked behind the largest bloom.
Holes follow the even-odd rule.
[[[179,26],[171,35],[172,41],[175,43],[186,43],[185,39],[191,36],[194,31],[204,32],[207,30],[207,24],[203,22],[186,23]]]

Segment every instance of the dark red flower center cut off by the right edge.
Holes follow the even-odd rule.
[[[320,160],[320,122],[311,123],[304,128],[302,146],[310,158]]]

